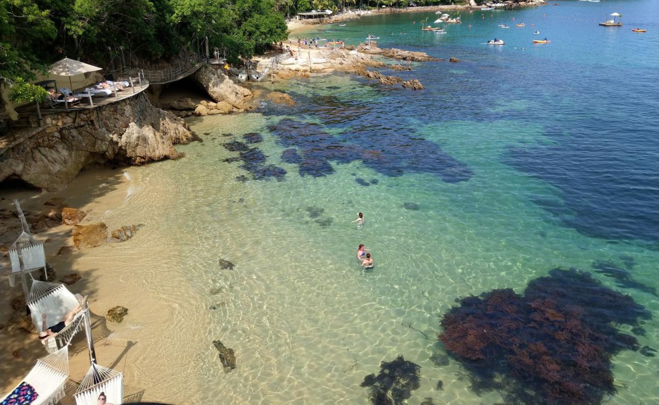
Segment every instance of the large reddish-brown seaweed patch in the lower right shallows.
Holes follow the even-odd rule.
[[[501,392],[507,404],[600,404],[614,394],[611,358],[637,350],[614,325],[650,311],[590,273],[553,269],[524,295],[509,288],[458,300],[440,339],[470,372],[472,389]]]

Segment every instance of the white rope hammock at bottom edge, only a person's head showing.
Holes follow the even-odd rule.
[[[75,394],[76,405],[95,405],[98,395],[105,392],[107,403],[123,403],[123,373],[92,364]]]

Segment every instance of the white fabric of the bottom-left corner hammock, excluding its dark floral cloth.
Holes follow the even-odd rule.
[[[64,346],[53,354],[37,360],[30,373],[23,379],[39,394],[30,405],[55,405],[64,396],[64,383],[69,377],[69,347]],[[20,384],[19,384],[20,385]],[[16,386],[17,388],[18,386]],[[12,390],[13,392],[14,390]],[[11,395],[2,396],[3,400]],[[1,400],[0,400],[1,402]]]

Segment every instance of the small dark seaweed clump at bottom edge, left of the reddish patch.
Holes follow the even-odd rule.
[[[374,405],[401,405],[420,387],[420,368],[398,356],[393,362],[380,363],[380,373],[366,375],[361,386],[369,387],[368,398]]]

